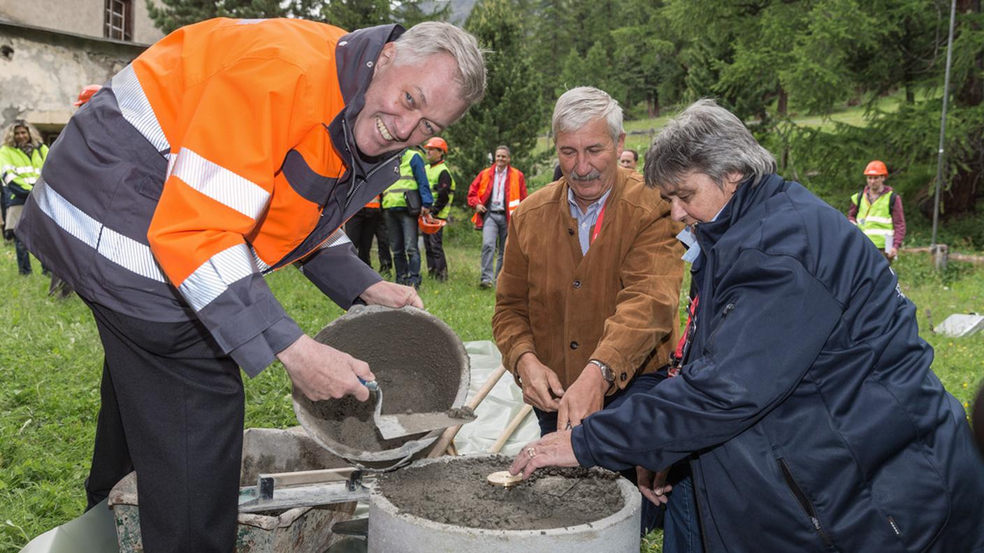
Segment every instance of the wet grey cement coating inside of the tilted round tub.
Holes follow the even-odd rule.
[[[409,312],[353,317],[325,328],[316,340],[369,364],[383,389],[383,414],[444,411],[452,406],[461,381],[460,354],[433,324]],[[425,434],[386,440],[373,422],[376,395],[368,401],[347,397],[316,401],[312,413],[332,440],[355,450],[399,449]]]

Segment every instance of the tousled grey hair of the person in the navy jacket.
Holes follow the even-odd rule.
[[[670,119],[646,152],[646,186],[680,186],[697,171],[719,188],[729,174],[740,173],[752,186],[775,172],[775,157],[762,147],[745,125],[712,99],[690,104]]]

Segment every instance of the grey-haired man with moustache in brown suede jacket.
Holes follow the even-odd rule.
[[[544,434],[577,426],[667,364],[683,278],[681,225],[618,165],[618,102],[587,87],[565,92],[553,134],[564,177],[513,215],[492,318]]]

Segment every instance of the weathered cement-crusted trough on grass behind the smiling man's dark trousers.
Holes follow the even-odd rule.
[[[239,485],[256,485],[260,473],[337,468],[346,463],[314,443],[300,427],[288,430],[250,428],[243,433]],[[131,472],[109,492],[121,553],[142,553],[137,473]],[[323,553],[344,536],[332,524],[347,521],[355,503],[302,507],[269,514],[240,513],[236,553]]]

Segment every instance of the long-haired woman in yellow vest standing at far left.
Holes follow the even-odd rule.
[[[48,155],[41,134],[31,123],[18,119],[7,126],[0,147],[0,169],[3,171],[3,200],[7,205],[5,232],[13,232],[21,220],[21,212]],[[17,249],[17,269],[21,275],[31,275],[31,255],[21,239],[14,236]],[[43,266],[42,266],[43,269]],[[46,273],[46,272],[45,272]]]

